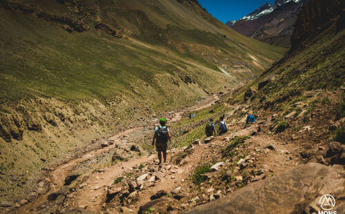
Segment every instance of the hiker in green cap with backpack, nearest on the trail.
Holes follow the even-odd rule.
[[[161,153],[163,153],[164,163],[166,162],[166,148],[168,147],[168,140],[171,144],[171,135],[169,128],[166,127],[166,119],[159,120],[159,126],[155,128],[155,135],[153,135],[152,146],[156,140],[156,150],[158,153],[159,165],[161,165]]]

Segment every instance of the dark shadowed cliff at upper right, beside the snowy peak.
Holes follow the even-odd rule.
[[[344,28],[344,6],[345,2],[340,0],[311,0],[304,4],[291,37],[290,51],[297,50],[306,39],[313,39],[327,28],[335,17],[339,16],[337,30]]]

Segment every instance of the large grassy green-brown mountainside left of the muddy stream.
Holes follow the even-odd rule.
[[[286,51],[197,1],[0,1],[0,187],[253,79]],[[13,175],[13,176],[10,176]],[[24,186],[24,187],[22,187]]]

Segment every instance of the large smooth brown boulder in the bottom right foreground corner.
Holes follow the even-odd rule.
[[[239,189],[187,213],[313,213],[320,197],[336,199],[333,211],[345,210],[344,166],[309,163]]]

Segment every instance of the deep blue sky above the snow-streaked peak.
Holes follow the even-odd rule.
[[[220,21],[226,23],[237,20],[259,8],[264,3],[274,3],[274,0],[199,0],[203,8]]]

